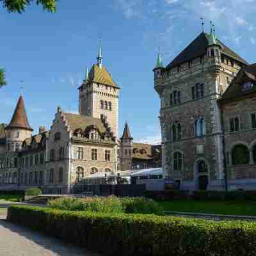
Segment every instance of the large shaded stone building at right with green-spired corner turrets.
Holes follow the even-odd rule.
[[[177,180],[181,189],[234,189],[236,185],[231,180],[236,183],[240,178],[243,179],[240,180],[243,188],[252,188],[248,184],[254,182],[253,166],[249,163],[234,166],[230,156],[234,145],[255,140],[256,132],[252,127],[248,128],[248,121],[244,121],[247,133],[244,128],[244,131],[230,134],[227,119],[230,116],[248,119],[250,111],[253,113],[255,109],[251,104],[253,99],[243,98],[242,103],[243,100],[235,96],[237,99],[232,100],[240,103],[220,103],[230,95],[229,92],[233,92],[232,88],[236,87],[233,83],[244,79],[241,78],[245,76],[244,72],[251,78],[255,76],[246,68],[239,72],[241,67],[252,68],[216,38],[214,28],[210,34],[201,33],[166,67],[163,67],[160,52],[158,54],[154,88],[161,99],[164,177]],[[236,122],[236,118],[232,120]],[[244,136],[248,138],[245,140]],[[249,147],[248,143],[246,147],[250,152],[253,145]],[[252,164],[252,156],[250,159]]]

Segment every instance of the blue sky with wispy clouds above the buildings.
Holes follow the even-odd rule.
[[[122,88],[120,134],[127,120],[134,141],[159,141],[152,72],[158,47],[167,65],[199,35],[204,17],[205,31],[213,20],[222,42],[256,62],[255,11],[256,0],[59,0],[57,13],[33,4],[22,15],[0,7],[0,67],[8,81],[0,90],[0,122],[10,122],[20,86],[35,131],[51,126],[57,106],[76,112],[77,87],[101,37],[103,64]]]

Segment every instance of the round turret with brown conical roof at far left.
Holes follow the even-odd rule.
[[[15,108],[10,124],[6,127],[6,152],[20,150],[22,142],[31,137],[33,129],[29,125],[25,103],[22,95]]]

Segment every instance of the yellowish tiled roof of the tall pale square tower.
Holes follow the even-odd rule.
[[[98,65],[94,64],[90,70],[89,79],[95,83],[106,84],[115,88],[119,88],[104,66],[100,68]]]

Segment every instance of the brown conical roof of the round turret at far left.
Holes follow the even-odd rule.
[[[12,116],[12,120],[6,129],[8,128],[21,128],[33,131],[28,122],[28,116],[26,114],[24,99],[22,95],[20,95],[19,101]]]

